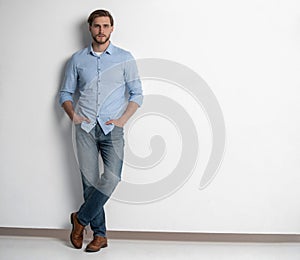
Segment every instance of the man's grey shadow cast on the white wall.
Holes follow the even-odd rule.
[[[90,44],[91,42],[90,33],[88,29],[88,23],[86,21],[81,21],[78,24],[78,37],[75,36],[74,40],[78,41],[79,43],[78,45],[81,46],[81,48],[84,48]],[[60,143],[64,155],[63,171],[65,173],[65,176],[63,179],[66,180],[66,183],[68,184],[66,190],[70,194],[70,197],[72,198],[72,205],[70,205],[70,207],[74,209],[74,211],[76,211],[83,200],[81,177],[80,177],[80,171],[78,169],[78,165],[73,150],[72,122],[69,119],[69,117],[65,114],[63,108],[60,107],[59,105],[59,91],[64,79],[65,68],[69,58],[70,57],[68,57],[61,64],[59,82],[57,86],[57,94],[55,96],[55,100],[53,101],[53,110],[54,110],[54,114],[56,115],[58,128],[60,129],[59,137],[60,137]],[[77,100],[76,96],[78,95],[76,95],[75,93],[75,97],[74,97],[75,102]],[[66,214],[69,214],[69,212],[66,212]],[[69,228],[69,219],[67,216],[66,216],[65,228]]]

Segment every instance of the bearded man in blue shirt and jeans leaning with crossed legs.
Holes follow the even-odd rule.
[[[142,104],[141,82],[132,55],[110,42],[114,21],[106,10],[88,18],[92,44],[73,54],[60,90],[60,104],[75,124],[77,158],[84,203],[71,214],[70,240],[82,248],[83,231],[94,239],[87,252],[107,246],[104,204],[121,179],[123,126]],[[79,93],[77,106],[73,94]],[[99,154],[103,173],[99,174]]]

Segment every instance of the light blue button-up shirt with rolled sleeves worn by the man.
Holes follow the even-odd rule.
[[[86,132],[98,121],[103,132],[108,134],[114,125],[105,125],[105,122],[118,119],[129,101],[139,106],[143,102],[133,56],[111,43],[100,56],[93,51],[92,45],[72,55],[60,90],[60,105],[67,100],[74,104],[75,91],[79,93],[75,112],[90,120],[90,123],[81,123]]]

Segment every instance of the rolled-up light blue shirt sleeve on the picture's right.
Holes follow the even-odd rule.
[[[143,103],[142,83],[136,62],[130,53],[125,65],[125,81],[129,93],[128,101],[135,102],[141,106]]]

